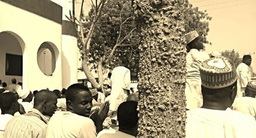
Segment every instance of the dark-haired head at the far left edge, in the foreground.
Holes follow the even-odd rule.
[[[6,111],[9,111],[13,103],[17,103],[15,94],[11,92],[0,94],[0,108],[2,110],[2,114],[5,114]]]

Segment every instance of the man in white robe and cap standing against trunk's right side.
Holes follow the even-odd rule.
[[[209,59],[209,55],[200,51],[204,45],[197,31],[187,33],[185,38],[188,51],[186,55],[186,109],[194,109],[201,107],[203,103],[199,65]]]

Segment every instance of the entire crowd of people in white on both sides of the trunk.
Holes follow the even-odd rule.
[[[185,38],[186,137],[256,137],[251,56],[236,67],[220,52],[204,53],[197,31]],[[104,91],[83,81],[32,93],[16,79],[0,81],[0,137],[136,137],[139,93],[131,93],[127,62],[108,74]]]

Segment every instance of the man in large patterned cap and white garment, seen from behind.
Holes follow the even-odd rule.
[[[186,137],[255,137],[255,119],[229,108],[237,94],[234,63],[211,58],[201,63],[200,74],[203,106],[187,111]]]

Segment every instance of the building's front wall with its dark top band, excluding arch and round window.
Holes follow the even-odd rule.
[[[18,38],[19,42],[24,42],[21,44],[24,88],[30,90],[47,87],[49,89],[61,89],[62,27],[61,16],[59,17],[59,15],[62,15],[62,9],[50,1],[36,0],[30,2],[28,0],[0,1],[0,32],[8,31],[16,34],[16,38],[21,38],[21,40]],[[27,5],[24,6],[24,4]],[[40,8],[35,8],[38,6]],[[43,74],[37,64],[37,51],[43,42],[50,43],[55,52],[56,68],[52,76]],[[0,45],[0,49],[2,49],[2,44],[0,43]]]

